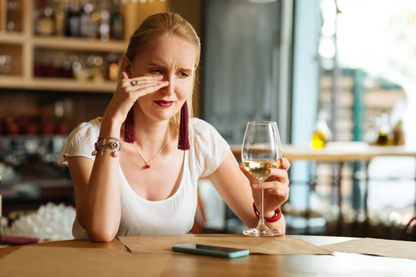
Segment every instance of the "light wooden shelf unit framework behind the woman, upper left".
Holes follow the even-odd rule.
[[[83,39],[74,37],[42,37],[33,35],[34,0],[20,1],[21,32],[6,30],[6,0],[0,0],[0,55],[12,52],[18,60],[16,72],[11,75],[0,75],[0,89],[36,89],[44,91],[73,91],[73,92],[105,92],[112,93],[115,82],[80,82],[73,79],[37,78],[33,74],[35,48],[47,48],[58,51],[83,51],[96,53],[123,54],[128,46],[126,41],[102,42],[98,39]],[[132,15],[132,4],[124,6],[125,25],[137,26],[137,17]],[[157,7],[159,11],[167,10],[166,4]],[[137,7],[137,6],[135,6]],[[143,7],[142,7],[143,8]],[[128,18],[127,18],[128,17]],[[125,37],[132,31],[125,30]],[[3,49],[2,49],[3,48]],[[1,49],[3,51],[1,51]],[[12,59],[15,59],[12,57]],[[15,66],[15,64],[13,65]]]

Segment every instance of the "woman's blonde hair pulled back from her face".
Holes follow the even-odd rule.
[[[187,42],[195,46],[195,69],[197,69],[200,62],[200,39],[188,21],[183,19],[180,15],[172,12],[157,13],[155,15],[150,15],[144,19],[140,26],[135,30],[135,33],[133,33],[130,37],[127,51],[125,51],[125,56],[128,57],[130,62],[132,62],[135,60],[136,55],[144,51],[144,48],[148,42],[150,42],[150,40],[163,36],[167,37],[169,35],[176,35],[177,37],[181,37],[182,39],[187,40]],[[117,85],[122,78],[122,72],[125,66],[123,62],[124,60],[125,59],[121,60]],[[189,117],[192,116],[192,96],[195,82],[196,72],[193,74],[191,93],[189,93],[187,98]],[[173,126],[179,127],[180,111],[178,111],[170,121]]]

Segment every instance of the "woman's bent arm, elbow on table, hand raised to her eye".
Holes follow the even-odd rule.
[[[100,136],[119,138],[121,125],[137,98],[168,84],[160,81],[159,77],[135,80],[139,84],[130,86],[132,79],[123,73],[119,89],[101,121]],[[105,151],[103,155],[97,154],[95,161],[85,157],[68,157],[67,160],[75,188],[78,222],[91,240],[110,242],[119,230],[121,219],[119,157]]]

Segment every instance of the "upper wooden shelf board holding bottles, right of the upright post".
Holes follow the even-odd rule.
[[[33,37],[33,46],[49,49],[125,53],[127,42],[101,42],[97,39],[75,37]]]

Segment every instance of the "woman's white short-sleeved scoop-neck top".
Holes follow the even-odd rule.
[[[73,129],[58,163],[67,165],[67,157],[74,156],[94,161],[92,152],[100,127],[100,118],[96,118]],[[180,235],[191,230],[198,179],[211,175],[220,166],[229,145],[212,125],[198,118],[190,120],[189,143],[191,149],[185,153],[182,181],[176,193],[167,199],[148,201],[139,197],[119,167],[121,221],[117,235]],[[88,238],[76,219],[72,234],[76,239]]]

